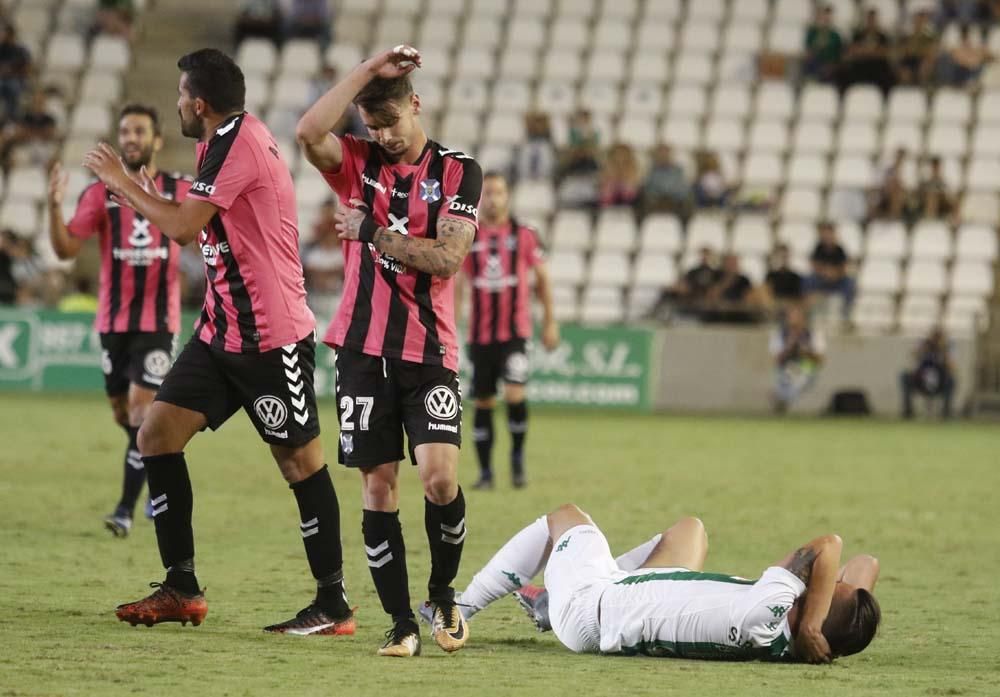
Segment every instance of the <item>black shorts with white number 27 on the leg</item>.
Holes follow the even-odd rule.
[[[404,459],[404,429],[411,459],[424,443],[461,446],[458,375],[442,366],[338,349],[337,418],[337,458],[348,467]]]

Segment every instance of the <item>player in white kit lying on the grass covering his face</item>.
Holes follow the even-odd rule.
[[[521,589],[539,628],[551,620],[576,652],[826,663],[864,650],[881,618],[878,561],[860,555],[838,569],[841,546],[817,537],[753,581],[702,572],[708,537],[697,518],[615,559],[567,504],[511,538],[456,600],[468,618]],[[545,590],[525,586],[543,567]]]

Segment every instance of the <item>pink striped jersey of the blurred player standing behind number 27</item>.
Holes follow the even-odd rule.
[[[530,269],[545,256],[533,228],[481,225],[463,269],[472,285],[469,343],[531,338]]]

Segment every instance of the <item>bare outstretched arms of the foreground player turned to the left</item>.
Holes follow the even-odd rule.
[[[83,164],[120,201],[134,208],[180,245],[194,240],[219,210],[211,203],[196,198],[186,198],[180,203],[164,198],[156,191],[145,169],[138,181],[133,179],[121,158],[107,143],[101,143],[87,153]]]

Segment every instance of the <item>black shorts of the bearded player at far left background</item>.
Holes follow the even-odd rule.
[[[101,370],[109,397],[128,392],[130,383],[156,390],[170,370],[174,335],[170,332],[101,334]]]

